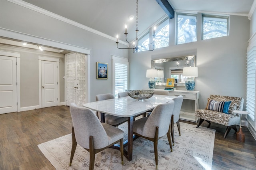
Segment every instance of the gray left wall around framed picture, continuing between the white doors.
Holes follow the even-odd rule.
[[[128,58],[128,50],[117,49],[116,43],[113,40],[3,0],[0,1],[0,27],[14,32],[20,32],[22,34],[28,34],[30,36],[90,49],[91,75],[89,82],[91,87],[91,101],[96,101],[95,95],[97,94],[112,93],[112,55]],[[121,44],[120,46],[122,47]],[[26,62],[29,60],[30,58],[26,58],[24,60],[21,58],[22,73],[25,73],[26,69],[34,69],[32,67],[38,67],[38,63],[35,66]],[[31,60],[36,62],[33,57]],[[96,79],[97,61],[108,63],[108,79]],[[60,102],[64,102],[65,81],[62,79],[65,69],[64,60],[60,63],[60,69],[60,80],[62,81],[60,84]],[[20,78],[21,82],[24,82],[24,85],[21,86],[21,99],[24,100],[22,102],[26,103],[24,106],[33,106],[35,103],[39,103],[38,83],[33,84],[35,93],[32,98],[34,98],[34,100],[30,103],[31,99],[28,99],[28,97],[24,95],[26,94],[26,85],[32,80],[28,75],[24,74],[22,74]]]

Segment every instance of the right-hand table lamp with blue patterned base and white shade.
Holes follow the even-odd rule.
[[[182,76],[187,77],[185,81],[185,87],[187,91],[194,91],[195,79],[198,77],[198,67],[184,67]]]

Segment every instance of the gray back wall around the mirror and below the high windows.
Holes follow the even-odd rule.
[[[245,16],[230,16],[230,34],[226,37],[200,40],[201,18],[198,18],[197,42],[174,45],[175,19],[170,20],[170,45],[154,51],[132,53],[130,59],[130,89],[148,88],[146,69],[152,59],[196,55],[200,91],[200,108],[204,109],[210,94],[243,97],[246,90],[246,51],[250,20]]]

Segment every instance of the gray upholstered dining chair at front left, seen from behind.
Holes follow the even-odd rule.
[[[106,123],[100,123],[92,110],[85,107],[78,107],[74,103],[70,105],[70,114],[72,118],[72,149],[70,154],[70,163],[79,144],[90,152],[89,169],[94,169],[95,154],[120,143],[121,161],[124,163],[124,132],[119,128],[113,127]]]

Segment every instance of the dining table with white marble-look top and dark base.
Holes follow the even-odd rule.
[[[101,113],[101,122],[105,122],[105,114],[127,117],[128,118],[128,139],[126,141],[127,150],[124,149],[124,156],[132,160],[132,142],[133,142],[133,122],[134,117],[154,109],[157,105],[167,103],[175,97],[166,95],[153,95],[149,99],[133,99],[130,96],[114,99],[96,101],[83,104],[84,107]]]

